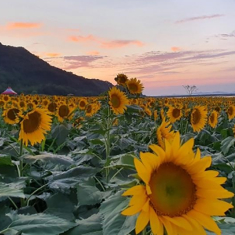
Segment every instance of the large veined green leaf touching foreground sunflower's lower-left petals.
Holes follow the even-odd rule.
[[[137,216],[123,216],[121,211],[128,205],[129,200],[118,192],[100,207],[100,213],[104,217],[103,235],[127,235],[135,228]]]

